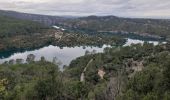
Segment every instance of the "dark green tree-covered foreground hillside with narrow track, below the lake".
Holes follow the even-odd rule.
[[[0,65],[1,100],[169,100],[170,47],[145,43],[86,53],[65,71],[41,57]]]

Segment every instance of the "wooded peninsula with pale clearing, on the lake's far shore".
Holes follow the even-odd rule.
[[[31,50],[46,45],[64,46],[102,46],[123,45],[125,39],[118,36],[87,35],[79,33],[63,32],[55,29],[47,29],[41,33],[31,35],[16,35],[0,39],[0,52],[16,52]]]

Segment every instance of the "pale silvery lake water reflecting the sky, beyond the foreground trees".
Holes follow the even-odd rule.
[[[158,41],[148,41],[149,43],[153,43],[154,45],[157,45]],[[137,39],[127,39],[127,42],[124,46],[129,46],[131,44],[137,44],[137,43],[144,43],[142,40]],[[10,55],[7,58],[4,58],[3,56],[0,57],[0,63],[3,63],[5,61],[9,61],[11,59],[23,59],[24,61],[27,58],[27,55],[34,54],[36,56],[35,60],[38,61],[42,56],[45,57],[47,61],[53,61],[53,58],[56,57],[58,61],[62,62],[60,67],[62,68],[63,65],[69,65],[70,62],[77,57],[85,55],[85,52],[96,50],[96,53],[103,52],[104,48],[110,47],[108,45],[103,45],[103,47],[89,47],[86,46],[85,48],[83,46],[76,46],[76,47],[63,47],[62,49],[58,46],[46,46],[37,50],[32,51],[25,51],[25,52],[17,52],[12,55]]]

